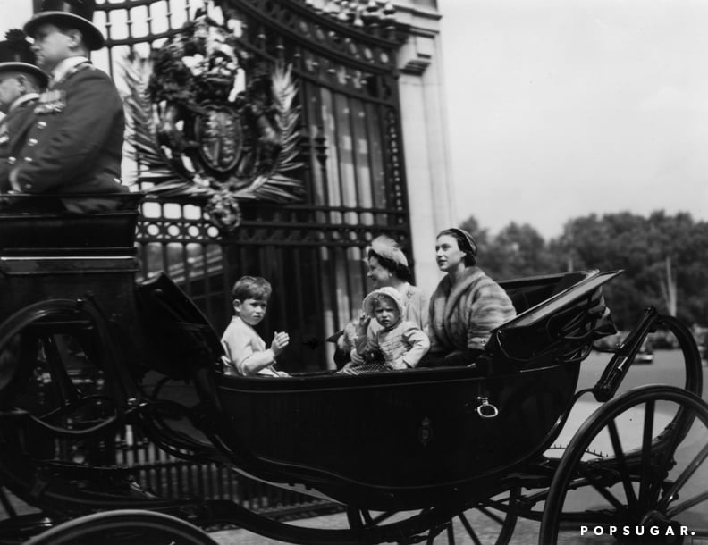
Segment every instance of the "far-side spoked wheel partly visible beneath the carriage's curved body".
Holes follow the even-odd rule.
[[[516,526],[519,494],[520,489],[515,487],[499,496],[463,508],[443,524],[434,524],[426,532],[416,536],[416,541],[422,538],[426,543],[452,544],[471,540],[476,545],[482,543],[505,545],[509,543]],[[416,518],[419,518],[420,522],[425,524],[426,514],[426,510],[417,515],[409,512],[373,512],[356,507],[347,510],[347,518],[352,530],[366,531],[376,527],[382,534],[385,534],[393,524],[400,524],[402,520],[417,524]],[[409,540],[410,537],[405,536],[405,539]]]

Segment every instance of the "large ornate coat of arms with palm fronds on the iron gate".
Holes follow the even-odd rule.
[[[124,63],[128,142],[139,182],[164,197],[207,197],[211,222],[240,224],[241,200],[299,200],[298,88],[291,67],[257,65],[197,13],[150,59]]]

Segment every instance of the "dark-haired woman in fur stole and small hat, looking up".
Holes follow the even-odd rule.
[[[468,365],[492,331],[516,315],[506,291],[476,266],[475,239],[458,228],[441,231],[435,260],[446,272],[430,300],[431,356],[445,365]]]

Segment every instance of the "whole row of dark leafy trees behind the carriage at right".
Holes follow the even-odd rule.
[[[646,306],[690,324],[708,320],[708,224],[690,214],[589,214],[569,220],[549,241],[513,222],[496,236],[473,217],[461,227],[478,237],[480,265],[494,278],[623,269],[606,287],[620,327],[631,327]]]

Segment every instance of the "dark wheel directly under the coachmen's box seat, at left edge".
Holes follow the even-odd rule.
[[[19,408],[40,427],[87,435],[115,420],[105,395],[105,326],[79,301],[54,299],[27,306],[0,324],[0,406]]]

